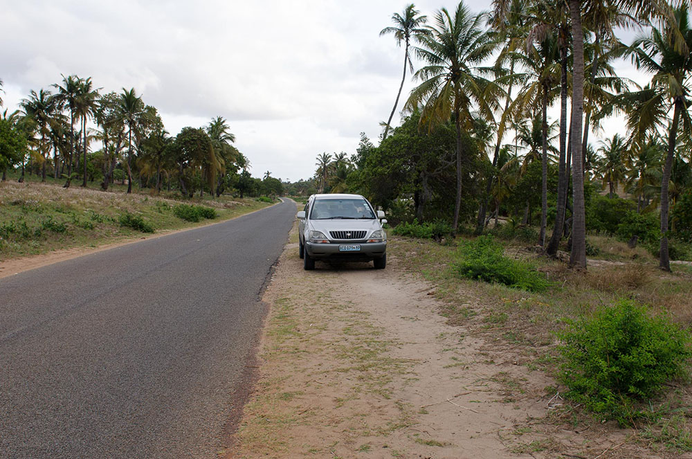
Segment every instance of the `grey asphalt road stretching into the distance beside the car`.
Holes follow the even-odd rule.
[[[0,279],[1,458],[216,458],[285,201]]]

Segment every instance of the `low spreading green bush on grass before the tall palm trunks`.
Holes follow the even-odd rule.
[[[504,256],[501,244],[492,236],[481,236],[459,247],[460,260],[453,269],[464,278],[498,282],[516,289],[544,291],[549,286],[533,264]]]

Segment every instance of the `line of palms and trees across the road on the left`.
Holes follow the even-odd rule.
[[[3,180],[17,168],[19,181],[27,173],[39,174],[42,181],[62,178],[65,187],[98,181],[107,190],[127,181],[128,193],[136,183],[185,197],[281,195],[278,179],[251,177],[250,161],[233,143],[221,116],[171,136],[156,107],[134,88],[101,93],[91,78],[63,75],[50,89],[32,90],[19,110],[3,111],[0,170]]]

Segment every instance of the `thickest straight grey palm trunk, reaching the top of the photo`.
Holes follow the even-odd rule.
[[[583,151],[581,129],[584,113],[584,31],[581,26],[581,0],[570,0],[574,69],[572,71],[572,253],[570,267],[586,269],[586,215],[584,204]]]

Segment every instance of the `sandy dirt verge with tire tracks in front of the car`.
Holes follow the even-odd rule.
[[[487,330],[448,325],[432,287],[388,262],[304,271],[286,246],[264,294],[260,377],[221,457],[692,458],[565,422],[554,379]]]

